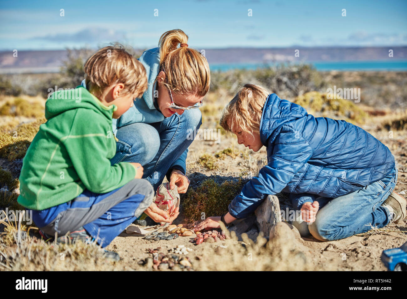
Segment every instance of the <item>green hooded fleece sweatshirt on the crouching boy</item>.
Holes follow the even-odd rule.
[[[116,109],[81,86],[51,94],[45,104],[47,122],[39,127],[23,159],[18,203],[45,210],[85,189],[106,193],[134,179],[131,164],[110,165],[116,154],[112,132]]]

